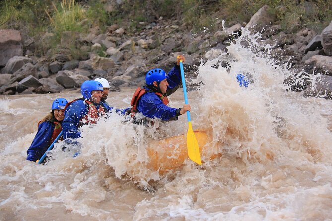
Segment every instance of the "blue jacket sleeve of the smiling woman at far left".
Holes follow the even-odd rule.
[[[26,152],[28,155],[27,160],[37,161],[43,156],[47,148],[49,148],[53,130],[54,124],[52,122],[44,121],[39,124],[37,134]]]

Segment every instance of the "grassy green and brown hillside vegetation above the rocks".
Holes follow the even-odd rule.
[[[211,32],[226,26],[248,22],[264,5],[271,7],[277,23],[286,32],[303,27],[319,33],[332,20],[332,1],[327,0],[122,0],[112,10],[104,6],[108,0],[2,0],[0,28],[20,29],[23,35],[55,34],[54,46],[64,31],[88,33],[91,27],[105,32],[112,24],[125,26],[135,35],[142,25],[160,17],[179,21],[192,32],[204,28]]]

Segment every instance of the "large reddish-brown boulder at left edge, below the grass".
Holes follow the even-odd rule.
[[[0,29],[0,67],[5,66],[11,57],[22,55],[21,33],[12,29]]]

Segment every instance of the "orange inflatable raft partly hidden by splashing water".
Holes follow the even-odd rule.
[[[211,136],[202,131],[194,131],[194,134],[199,144],[202,161],[221,156],[221,153],[216,154],[212,150],[214,147],[212,146]],[[158,171],[160,175],[174,171],[182,166],[186,159],[189,159],[186,135],[152,141],[147,148],[147,154],[149,156],[147,166],[151,170]]]

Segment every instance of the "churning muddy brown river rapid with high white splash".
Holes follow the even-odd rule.
[[[0,220],[332,220],[332,101],[287,92],[289,70],[259,42],[243,31],[228,54],[199,66],[199,90],[188,92],[193,129],[222,155],[201,166],[185,160],[163,176],[146,167],[146,147],[186,133],[185,116],[147,129],[111,113],[81,128],[77,157],[60,142],[39,165],[25,160],[38,121],[55,98],[79,91],[1,96]],[[237,73],[251,74],[248,88]],[[107,102],[129,107],[134,90],[110,92]],[[182,105],[179,89],[170,106]]]

